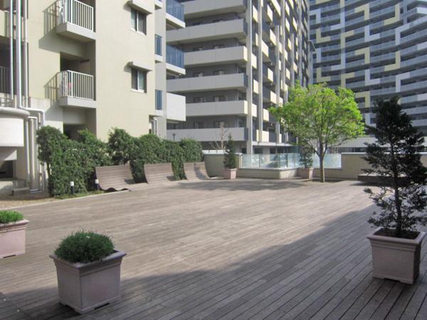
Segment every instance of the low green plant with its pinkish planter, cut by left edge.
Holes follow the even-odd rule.
[[[28,222],[18,211],[0,210],[0,258],[25,253],[25,231]]]

